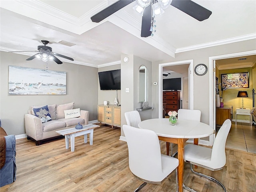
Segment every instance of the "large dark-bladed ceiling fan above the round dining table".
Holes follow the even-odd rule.
[[[104,10],[98,12],[94,16],[91,17],[92,22],[101,22],[108,16],[112,15],[113,13],[117,12],[118,10],[124,8],[126,5],[134,2],[135,0],[118,0],[105,8]],[[149,5],[144,8],[144,12],[142,15],[142,26],[141,26],[141,37],[148,37],[151,35],[152,31],[150,31],[150,27],[152,25],[152,6],[158,2],[169,2],[169,0],[137,0],[138,4],[139,1],[141,4],[147,3],[150,1]],[[212,12],[199,4],[191,1],[191,0],[171,0],[172,6],[176,7],[177,9],[181,10],[182,12],[192,16],[198,21],[206,20],[210,17]]]

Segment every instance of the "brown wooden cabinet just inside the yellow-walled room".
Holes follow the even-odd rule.
[[[232,105],[224,105],[223,108],[216,107],[216,125],[222,126],[226,119],[230,119],[232,121],[233,116],[233,106]]]

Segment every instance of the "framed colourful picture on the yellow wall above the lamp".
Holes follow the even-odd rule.
[[[221,87],[249,88],[249,72],[221,74]]]

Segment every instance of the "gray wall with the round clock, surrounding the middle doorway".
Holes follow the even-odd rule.
[[[170,60],[162,60],[158,62],[153,62],[152,64],[152,79],[153,81],[158,82],[158,64],[175,62],[182,60],[194,60],[194,67],[197,64],[203,63],[206,64],[208,68],[212,68],[212,64],[209,64],[209,57],[232,54],[237,52],[245,52],[250,50],[256,50],[256,40],[246,40],[243,42],[236,42],[231,44],[225,44],[220,46],[213,46],[209,48],[202,48],[198,50],[192,50],[182,53],[175,54],[175,58]],[[198,76],[194,73],[194,109],[199,109],[202,112],[201,121],[209,124],[209,72],[204,76]],[[152,92],[158,92],[158,85],[152,87]],[[152,94],[153,105],[157,110],[153,110],[152,117],[158,118],[158,100],[159,95]]]

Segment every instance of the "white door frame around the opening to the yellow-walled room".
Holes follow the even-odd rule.
[[[210,145],[213,145],[215,140],[215,131],[216,131],[216,95],[215,95],[215,77],[216,77],[216,66],[215,61],[220,59],[228,59],[240,56],[248,56],[255,55],[256,50],[246,51],[246,52],[238,52],[232,54],[218,55],[209,57],[209,125],[214,128],[214,134],[209,137]],[[233,109],[234,110],[234,109]],[[211,118],[212,117],[212,118]]]

